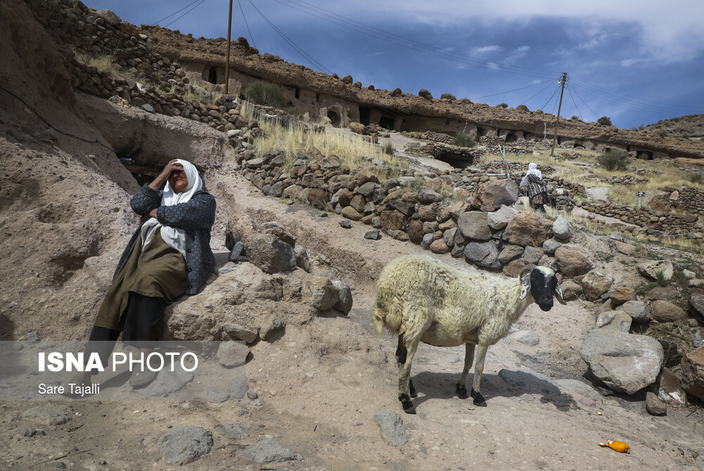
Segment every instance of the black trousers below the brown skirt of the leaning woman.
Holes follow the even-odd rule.
[[[148,346],[156,341],[159,321],[164,315],[164,301],[161,298],[151,298],[130,292],[127,302],[127,312],[122,316],[122,341],[137,348]],[[88,339],[86,356],[98,353],[103,367],[108,365],[110,354],[113,353],[115,342],[120,337],[119,330],[93,326]],[[97,372],[94,372],[97,374]]]

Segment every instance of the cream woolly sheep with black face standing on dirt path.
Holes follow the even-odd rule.
[[[486,349],[508,334],[531,303],[550,310],[553,291],[565,304],[555,272],[546,267],[524,268],[517,278],[505,278],[463,272],[426,255],[392,260],[377,281],[373,325],[379,337],[384,327],[398,334],[398,400],[403,410],[415,414],[410,397],[416,394],[409,376],[419,341],[434,346],[465,344],[465,365],[455,389],[460,398],[467,398],[465,382],[477,345],[470,394],[475,405],[486,406],[480,392]]]

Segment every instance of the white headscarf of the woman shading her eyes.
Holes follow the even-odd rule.
[[[203,189],[203,180],[201,180],[200,175],[198,175],[196,167],[192,163],[180,158],[176,161],[183,165],[183,170],[188,179],[188,186],[184,191],[176,193],[167,180],[164,192],[161,196],[161,206],[186,203],[194,194]],[[172,246],[177,251],[180,251],[183,256],[186,256],[186,231],[177,229],[176,227],[161,225],[161,222],[158,222],[156,218],[149,218],[149,220],[146,220],[144,225],[142,225],[142,249],[144,250],[144,247],[149,244],[151,237],[153,237],[154,232],[156,232],[159,227],[161,227],[161,238],[164,239],[169,246]]]

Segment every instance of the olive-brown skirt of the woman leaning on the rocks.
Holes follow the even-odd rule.
[[[161,238],[161,230],[156,230],[144,251],[142,239],[137,239],[130,258],[115,275],[94,325],[120,330],[130,292],[161,298],[165,303],[172,303],[186,292],[186,262]]]

